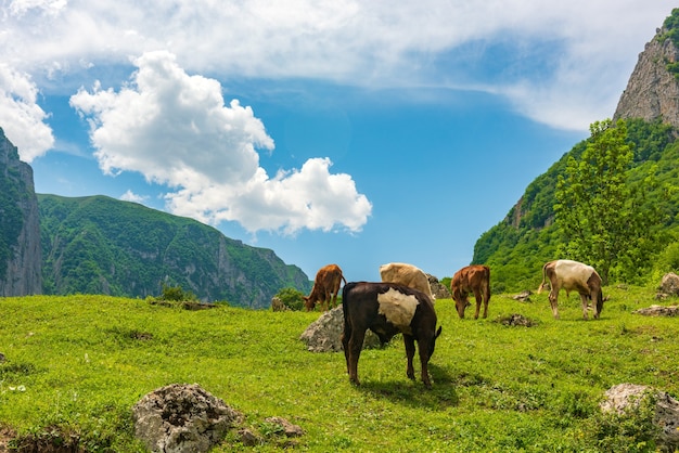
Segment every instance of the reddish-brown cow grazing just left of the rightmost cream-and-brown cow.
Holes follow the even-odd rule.
[[[478,319],[481,302],[484,302],[484,318],[488,316],[488,301],[490,300],[490,268],[483,264],[472,264],[460,269],[450,281],[450,294],[456,301],[456,308],[460,319],[464,318],[464,310],[470,302],[467,296],[474,293],[476,298],[476,312],[474,319]]]

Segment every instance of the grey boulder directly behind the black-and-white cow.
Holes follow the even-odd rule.
[[[318,320],[309,324],[299,339],[311,352],[342,351],[342,334],[344,333],[344,313],[342,306],[324,312]],[[363,349],[380,347],[380,338],[371,331],[366,333]]]

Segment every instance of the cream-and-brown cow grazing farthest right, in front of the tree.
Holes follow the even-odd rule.
[[[587,302],[591,300],[594,309],[594,318],[598,319],[603,310],[603,294],[601,292],[601,277],[591,266],[578,261],[560,259],[545,263],[542,267],[542,283],[538,294],[542,292],[549,279],[549,302],[552,306],[552,314],[559,319],[559,292],[566,290],[566,297],[572,290],[577,290],[582,300],[582,318],[587,316]]]

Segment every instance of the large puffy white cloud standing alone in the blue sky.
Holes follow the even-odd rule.
[[[71,98],[104,172],[138,171],[175,190],[166,195],[171,212],[251,232],[360,231],[367,222],[370,202],[350,176],[332,174],[328,159],[270,178],[257,150],[273,150],[273,140],[251,107],[225,105],[218,81],[187,74],[166,51],[133,63],[119,91],[95,85]]]

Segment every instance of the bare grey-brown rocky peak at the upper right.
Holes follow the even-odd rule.
[[[667,36],[665,27],[656,29],[646,43],[618,102],[613,120],[662,118],[679,126],[679,81],[668,65],[679,61],[679,49]]]

